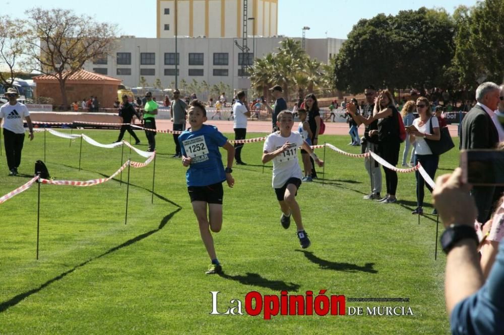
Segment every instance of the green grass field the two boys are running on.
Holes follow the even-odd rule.
[[[65,131],[65,130],[62,130]],[[110,143],[117,131],[84,130]],[[75,131],[74,131],[75,133]],[[230,136],[230,134],[228,134]],[[264,134],[247,134],[248,138]],[[19,169],[7,177],[0,157],[0,196],[29,180],[43,159],[43,134],[25,141]],[[143,143],[145,135],[139,134]],[[126,137],[128,139],[128,135]],[[224,223],[214,234],[224,275],[207,276],[210,263],[185,187],[185,169],[171,135],[158,134],[154,204],[153,164],[131,169],[127,187],[118,178],[86,187],[41,186],[40,258],[35,259],[37,187],[0,205],[0,333],[341,333],[439,334],[449,331],[444,304],[445,256],[434,261],[435,216],[420,219],[414,174],[400,174],[396,204],[363,200],[369,178],[361,158],[326,150],[325,185],[303,183],[297,200],[312,241],[299,247],[294,225],[284,230],[271,188],[271,163],[261,163],[263,143],[246,144],[247,166],[235,166],[235,187],[224,189]],[[320,136],[349,152],[348,136]],[[454,139],[458,141],[458,139]],[[121,164],[121,149],[102,149],[47,134],[51,176],[90,180],[109,176]],[[456,143],[457,145],[458,143]],[[3,143],[2,143],[3,145]],[[146,149],[146,145],[139,145]],[[402,148],[401,148],[402,150]],[[124,161],[129,149],[124,151]],[[318,149],[323,156],[323,149]],[[402,154],[402,151],[401,151]],[[133,153],[133,160],[145,158]],[[458,150],[440,159],[437,175],[458,165]],[[322,169],[320,176],[322,175]],[[385,177],[385,176],[384,176]],[[123,173],[122,180],[127,178]],[[384,178],[385,186],[385,178]],[[385,190],[383,191],[385,193]],[[430,213],[426,195],[425,212]],[[439,232],[442,229],[439,228]],[[350,302],[364,315],[210,315],[211,291],[219,311],[263,295],[305,295],[328,290],[346,298],[409,298],[409,302]],[[366,315],[366,307],[400,306],[414,315]],[[243,306],[243,312],[245,312]]]

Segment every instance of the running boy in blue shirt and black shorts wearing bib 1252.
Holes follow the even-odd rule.
[[[233,187],[231,176],[234,147],[216,127],[203,124],[207,121],[207,111],[203,104],[194,100],[187,113],[191,128],[178,137],[182,151],[182,165],[189,167],[185,174],[187,191],[193,211],[200,225],[200,234],[212,260],[206,274],[218,274],[222,267],[215,254],[214,240],[210,230],[219,232],[222,227],[222,182]],[[219,147],[227,150],[227,167],[222,165]],[[207,216],[208,206],[208,216]]]

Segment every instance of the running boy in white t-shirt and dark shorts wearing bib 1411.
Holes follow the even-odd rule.
[[[295,198],[303,177],[297,160],[297,148],[302,147],[307,151],[319,166],[323,166],[324,161],[313,153],[311,147],[303,141],[298,132],[292,131],[293,126],[294,117],[290,111],[282,111],[278,114],[277,127],[280,131],[275,131],[266,138],[262,160],[263,163],[273,160],[272,184],[282,210],[280,223],[285,229],[289,228],[292,214],[297,226],[299,243],[304,249],[310,246],[311,242],[304,230],[301,210]]]

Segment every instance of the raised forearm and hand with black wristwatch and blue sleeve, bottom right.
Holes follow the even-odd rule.
[[[441,236],[447,254],[445,298],[453,334],[504,333],[504,243],[484,282],[474,229],[477,208],[462,182],[462,170],[437,178],[432,192],[446,230]]]

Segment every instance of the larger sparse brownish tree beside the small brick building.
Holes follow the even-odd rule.
[[[86,61],[104,58],[114,50],[117,26],[65,9],[33,8],[26,14],[28,61],[33,69],[58,80],[67,106],[67,79]]]

